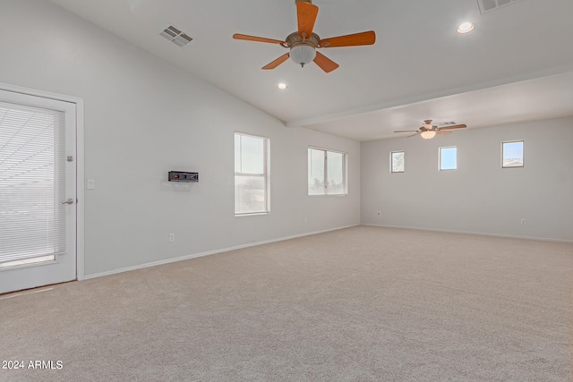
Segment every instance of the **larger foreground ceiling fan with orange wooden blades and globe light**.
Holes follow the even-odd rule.
[[[298,30],[288,35],[285,41],[242,35],[239,33],[233,35],[235,39],[278,44],[281,47],[289,49],[288,53],[266,64],[262,69],[275,69],[279,64],[284,63],[290,57],[296,64],[300,64],[301,66],[313,61],[314,64],[319,65],[324,72],[332,72],[338,68],[338,64],[330,60],[327,56],[317,52],[317,48],[355,47],[360,45],[372,45],[376,42],[376,34],[373,30],[335,38],[321,39],[319,35],[312,32],[314,29],[314,21],[316,21],[316,16],[319,13],[319,7],[312,4],[312,0],[295,0],[295,3]]]

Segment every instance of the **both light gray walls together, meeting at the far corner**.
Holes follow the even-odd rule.
[[[0,52],[0,82],[84,99],[85,176],[97,186],[85,191],[86,276],[357,225],[361,214],[371,225],[573,240],[571,118],[361,145],[286,128],[46,1],[0,3]],[[234,216],[235,131],[271,140],[267,216]],[[501,170],[500,141],[517,139],[526,166]],[[309,145],[348,153],[347,197],[307,196]],[[438,147],[449,145],[458,170],[440,173]],[[389,174],[397,149],[405,174]],[[170,169],[201,182],[167,183]]]

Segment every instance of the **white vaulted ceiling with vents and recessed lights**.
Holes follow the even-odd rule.
[[[573,115],[573,1],[521,0],[480,13],[477,0],[314,0],[321,38],[374,30],[367,47],[321,53],[330,73],[291,61],[278,45],[296,30],[295,0],[52,0],[274,115],[354,140],[400,136],[424,119],[468,127]],[[475,30],[456,32],[462,21]],[[193,38],[176,47],[159,33],[175,25]],[[276,84],[286,82],[288,89]],[[404,135],[404,134],[402,134]]]

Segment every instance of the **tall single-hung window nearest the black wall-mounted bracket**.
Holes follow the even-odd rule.
[[[269,213],[269,140],[235,132],[235,216]]]

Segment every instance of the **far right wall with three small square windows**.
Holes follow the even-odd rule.
[[[573,241],[571,126],[564,118],[363,142],[363,224]],[[500,167],[504,140],[525,140],[524,167]],[[458,147],[458,170],[438,171],[442,146]],[[406,151],[403,174],[389,173],[396,150]]]

